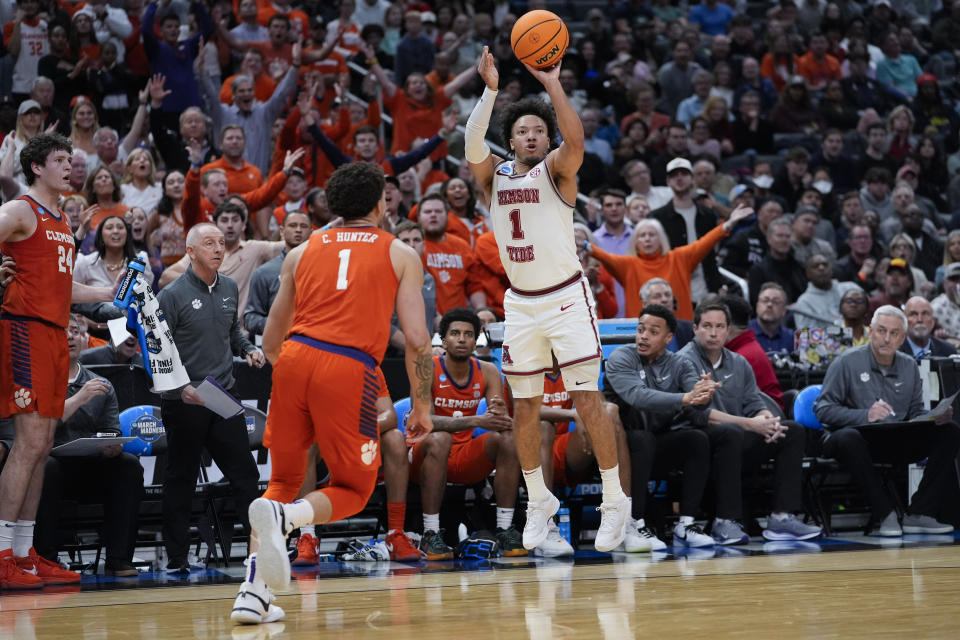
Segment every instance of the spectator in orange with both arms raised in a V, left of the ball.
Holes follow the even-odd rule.
[[[477,68],[471,66],[437,92],[434,92],[422,73],[411,73],[407,76],[404,88],[400,89],[387,77],[373,51],[367,45],[363,46],[368,63],[372,62],[370,70],[383,89],[383,104],[393,116],[395,124],[390,151],[394,154],[412,147],[417,138],[427,139],[436,135],[443,120],[443,110],[452,104],[451,99],[457,91],[477,73]],[[403,124],[397,126],[396,123]]]

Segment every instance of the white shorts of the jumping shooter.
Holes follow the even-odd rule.
[[[503,374],[513,395],[543,395],[543,374],[559,367],[567,391],[596,391],[600,336],[593,292],[581,274],[543,291],[507,290]]]

